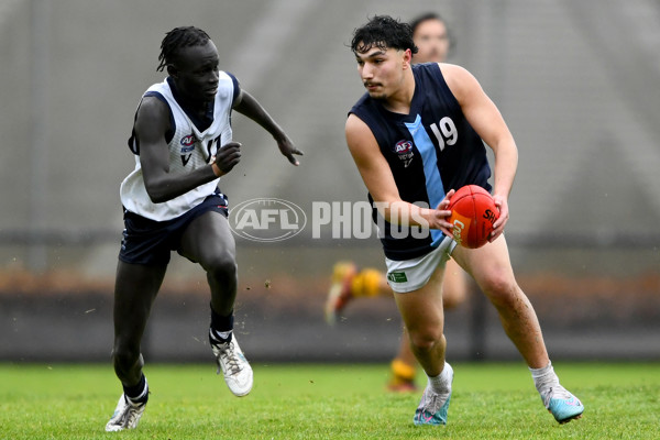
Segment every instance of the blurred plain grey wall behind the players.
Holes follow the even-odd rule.
[[[244,158],[222,184],[232,202],[364,200],[343,143],[346,109],[362,94],[345,44],[369,15],[409,19],[428,10],[447,16],[458,41],[452,62],[475,74],[517,139],[512,237],[657,233],[657,2],[194,0],[164,7],[155,0],[62,0],[48,8],[47,107],[33,112],[31,103],[42,102],[31,82],[36,3],[6,1],[0,9],[6,234],[37,224],[73,233],[117,231],[119,238],[118,187],[133,166],[125,147],[133,112],[142,91],[163,77],[155,67],[164,33],[182,24],[211,34],[222,68],[306,152],[294,169],[263,131],[237,116]],[[46,121],[41,154],[47,169],[38,177],[33,113]],[[44,185],[34,191],[34,182]],[[44,204],[31,208],[35,193]],[[67,252],[56,249],[47,267],[73,265],[111,276],[114,250],[86,246],[72,258],[62,255]],[[23,248],[4,245],[0,257],[4,266],[28,264]]]

